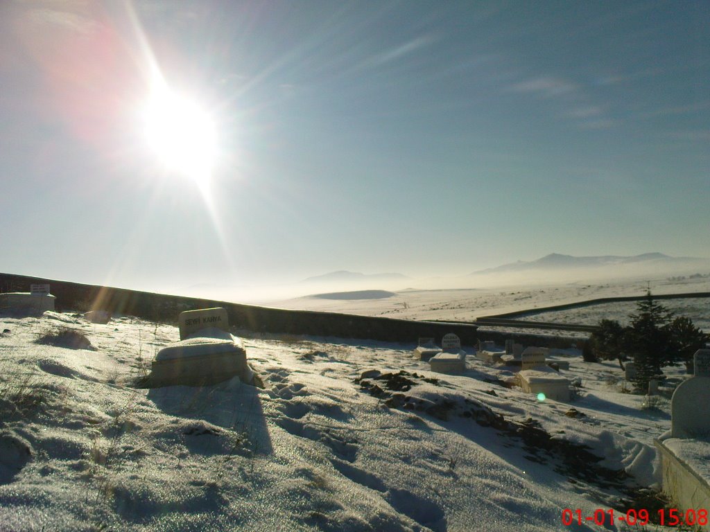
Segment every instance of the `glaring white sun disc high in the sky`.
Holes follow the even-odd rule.
[[[214,119],[194,99],[160,86],[145,106],[144,133],[164,170],[200,184],[209,179],[217,155]]]

